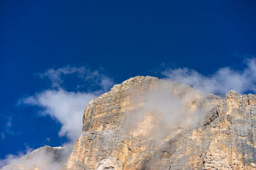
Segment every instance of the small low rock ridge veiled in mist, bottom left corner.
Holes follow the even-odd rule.
[[[63,147],[44,146],[20,158],[10,159],[10,164],[2,170],[56,170],[61,169],[67,154]]]

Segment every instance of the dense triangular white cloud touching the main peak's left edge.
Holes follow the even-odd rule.
[[[74,141],[81,134],[84,109],[95,97],[97,97],[95,94],[58,89],[45,90],[24,99],[23,102],[41,107],[42,115],[50,115],[58,120],[62,125],[60,136],[67,136]]]

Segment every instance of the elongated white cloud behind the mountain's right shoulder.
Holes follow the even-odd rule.
[[[204,76],[193,69],[179,68],[163,71],[166,78],[185,83],[205,93],[225,95],[229,90],[243,93],[256,92],[256,60],[247,59],[243,70],[234,70],[230,67],[218,69],[211,76]]]

